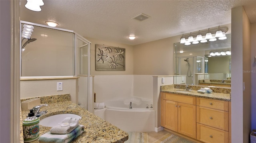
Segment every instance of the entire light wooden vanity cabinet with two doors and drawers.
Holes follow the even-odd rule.
[[[231,143],[231,102],[161,92],[161,126],[204,143]]]

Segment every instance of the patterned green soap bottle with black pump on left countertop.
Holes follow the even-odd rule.
[[[30,110],[28,117],[22,121],[24,143],[30,143],[39,138],[39,118]]]

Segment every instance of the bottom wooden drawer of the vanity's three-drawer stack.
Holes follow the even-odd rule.
[[[228,131],[197,123],[196,139],[204,143],[229,143]]]

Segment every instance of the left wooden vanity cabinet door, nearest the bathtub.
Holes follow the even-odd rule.
[[[163,126],[178,131],[178,102],[163,100]]]

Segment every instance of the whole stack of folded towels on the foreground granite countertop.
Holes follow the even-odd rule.
[[[49,132],[41,135],[39,143],[70,143],[84,132],[84,125],[78,124],[76,118],[65,118],[60,125],[56,125]]]

